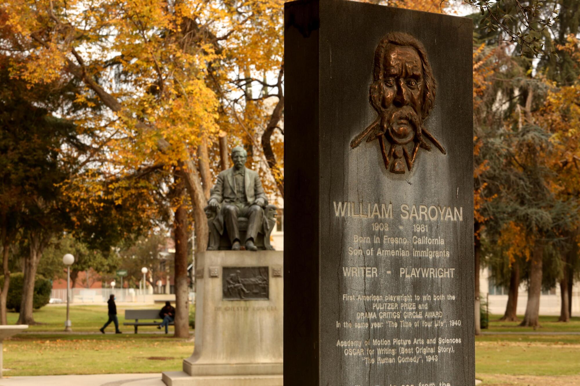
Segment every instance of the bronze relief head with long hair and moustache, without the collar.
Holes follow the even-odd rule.
[[[423,119],[435,101],[435,82],[422,43],[401,32],[376,47],[369,100],[380,115],[381,131],[396,144],[420,139]]]

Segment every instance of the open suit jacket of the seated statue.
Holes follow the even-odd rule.
[[[260,181],[260,176],[257,172],[247,167],[244,171],[244,185],[246,191],[245,198],[248,205],[252,205],[258,198],[262,198],[264,203],[268,202],[268,198],[262,187],[262,181]],[[235,189],[234,167],[230,167],[230,169],[218,174],[218,181],[213,185],[212,194],[209,199],[214,198],[218,202],[234,202],[238,198]],[[242,197],[240,197],[240,201],[244,201]]]

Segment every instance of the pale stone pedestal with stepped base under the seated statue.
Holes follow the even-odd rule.
[[[197,256],[195,348],[168,386],[282,385],[283,252]]]

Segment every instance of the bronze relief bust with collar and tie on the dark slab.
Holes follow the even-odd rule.
[[[369,101],[378,116],[354,137],[350,147],[357,147],[364,139],[378,139],[385,167],[391,173],[405,173],[405,163],[410,171],[419,148],[431,151],[425,138],[445,154],[443,145],[423,127],[433,108],[435,89],[422,43],[401,32],[386,35],[375,50],[369,88]]]

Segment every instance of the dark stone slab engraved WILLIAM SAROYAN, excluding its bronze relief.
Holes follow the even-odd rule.
[[[437,93],[424,126],[446,153],[430,143],[432,151],[420,148],[414,167],[404,174],[386,169],[377,140],[350,148],[354,137],[377,116],[369,104],[369,85],[375,48],[389,32],[405,32],[425,46]],[[339,0],[286,3],[285,72],[285,385],[473,385],[471,20]],[[353,202],[357,214],[360,203],[365,213],[368,203],[371,208],[378,203],[379,212],[382,204],[392,205],[392,217],[349,217],[348,211],[345,217],[336,216],[335,202]],[[451,206],[450,216],[457,221],[445,220],[447,209],[443,220],[441,216],[431,220],[428,213],[427,219],[403,219],[403,204],[409,206],[409,213],[413,205],[418,212],[420,205],[427,210]],[[462,220],[455,207],[461,210]],[[375,231],[374,223],[387,223],[389,230],[383,225],[383,230]],[[429,229],[415,231],[415,225]],[[354,242],[355,235],[362,236],[363,242]],[[407,239],[407,243],[385,242],[384,236]],[[444,245],[413,243],[414,236],[443,239]],[[349,247],[360,248],[362,256],[349,255]],[[379,247],[407,251],[409,256],[376,256]],[[371,248],[373,254],[367,255]],[[445,257],[414,256],[414,251],[426,253],[427,248],[443,251]],[[345,270],[360,273],[358,267],[371,270],[345,276]],[[455,271],[454,278],[416,278],[405,272],[401,276],[401,268],[407,268],[409,275],[416,272],[412,268],[434,268],[419,271],[427,275],[437,275],[438,268]],[[444,300],[434,300],[441,294]],[[383,296],[383,300],[343,300],[343,295]],[[401,295],[412,300],[387,300]],[[423,295],[432,300],[423,300]],[[397,309],[384,303],[396,304]],[[404,303],[414,303],[415,309],[401,309]],[[404,315],[409,311],[422,312],[422,317]],[[361,318],[357,312],[376,312],[376,318],[372,314],[371,319]],[[400,312],[400,317],[380,317],[379,312]],[[451,321],[457,320],[461,326],[452,326]],[[345,322],[352,327],[345,327]],[[355,326],[367,322],[368,327]],[[373,322],[383,326],[372,327]],[[387,322],[397,322],[397,327]],[[407,323],[411,327],[405,327]],[[427,342],[433,338],[435,343]],[[374,339],[389,342],[373,344]],[[361,341],[362,355],[345,355],[345,349],[357,345],[337,346],[353,341]],[[379,348],[395,353],[387,350],[377,355]],[[369,354],[367,349],[375,351]],[[430,349],[437,360],[427,361],[431,354],[424,351]],[[452,352],[438,352],[441,349]],[[378,363],[378,356],[395,363]],[[398,358],[418,362],[398,363]]]

